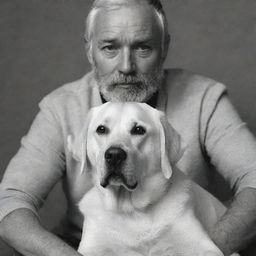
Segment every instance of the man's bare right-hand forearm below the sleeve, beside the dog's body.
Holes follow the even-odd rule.
[[[256,237],[256,189],[239,192],[211,237],[224,255],[244,249]]]

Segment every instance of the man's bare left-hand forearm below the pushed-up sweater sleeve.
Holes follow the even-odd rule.
[[[81,256],[44,229],[35,214],[28,209],[18,209],[7,215],[0,223],[0,235],[26,256]]]

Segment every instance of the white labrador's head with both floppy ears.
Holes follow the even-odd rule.
[[[164,114],[144,103],[106,103],[93,108],[70,150],[81,171],[102,188],[147,190],[152,177],[169,179],[183,148]],[[156,184],[157,185],[157,184]]]

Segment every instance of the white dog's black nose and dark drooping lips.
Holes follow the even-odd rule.
[[[120,147],[110,147],[105,152],[106,174],[101,180],[101,186],[107,187],[110,181],[123,184],[129,190],[134,190],[137,187],[137,182],[134,179],[127,177],[122,171],[123,164],[127,159],[127,153]]]

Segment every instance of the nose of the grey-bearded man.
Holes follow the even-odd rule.
[[[130,49],[122,50],[118,66],[119,72],[129,74],[135,71],[135,63]]]

